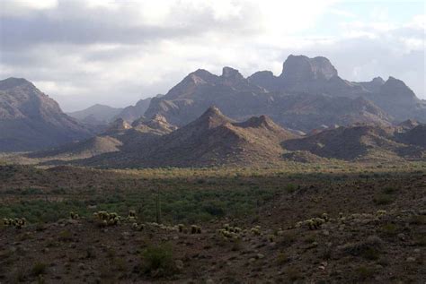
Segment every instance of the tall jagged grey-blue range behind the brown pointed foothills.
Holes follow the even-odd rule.
[[[404,82],[348,82],[324,57],[288,56],[282,73],[253,73],[248,78],[224,67],[220,76],[197,70],[152,99],[146,116],[159,113],[174,125],[185,125],[215,105],[226,116],[244,120],[268,115],[281,126],[310,132],[357,122],[390,125],[413,118],[426,122],[426,103]]]

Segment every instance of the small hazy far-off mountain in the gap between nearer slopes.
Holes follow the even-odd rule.
[[[111,108],[96,104],[90,108],[67,113],[67,115],[88,125],[108,125],[122,110],[123,108]]]

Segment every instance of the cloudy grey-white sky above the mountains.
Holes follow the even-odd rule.
[[[26,78],[66,111],[124,107],[198,68],[280,74],[304,54],[426,99],[425,35],[422,0],[0,0],[0,79]]]

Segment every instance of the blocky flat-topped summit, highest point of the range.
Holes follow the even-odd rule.
[[[281,78],[287,82],[313,80],[330,80],[337,76],[337,70],[330,60],[323,56],[309,58],[307,56],[288,56],[284,62]]]

